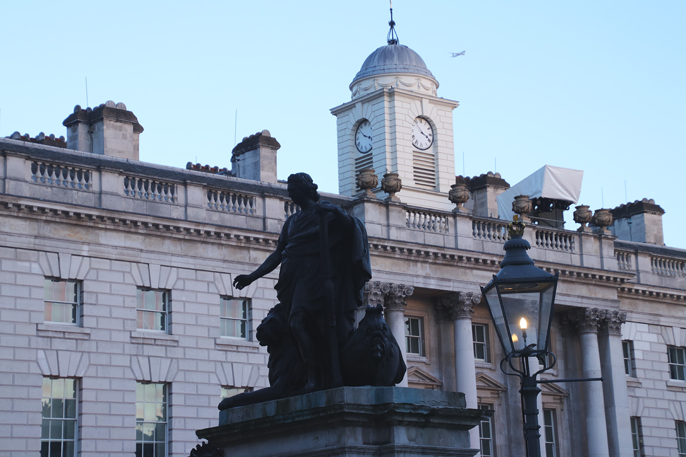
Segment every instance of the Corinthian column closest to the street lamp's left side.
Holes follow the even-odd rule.
[[[464,393],[467,408],[477,407],[476,371],[471,330],[474,306],[481,301],[481,294],[452,292],[440,298],[438,305],[447,311],[453,321],[455,338],[455,379],[457,391]],[[471,447],[480,448],[478,427],[469,431]]]

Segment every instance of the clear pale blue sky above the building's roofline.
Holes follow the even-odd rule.
[[[111,99],[145,128],[141,161],[230,168],[235,143],[268,129],[281,143],[279,178],[304,171],[338,192],[329,110],[351,99],[362,62],[386,45],[388,8],[5,2],[0,136],[66,135],[75,104]],[[460,102],[457,174],[499,172],[514,185],[543,165],[582,169],[578,204],[653,198],[665,244],[686,248],[685,1],[395,0],[393,16],[438,96]],[[571,210],[565,227],[576,229]]]

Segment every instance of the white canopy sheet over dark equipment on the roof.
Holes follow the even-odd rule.
[[[512,220],[512,201],[518,195],[528,195],[531,199],[543,197],[576,203],[581,193],[583,177],[582,170],[545,165],[497,196],[498,217]]]

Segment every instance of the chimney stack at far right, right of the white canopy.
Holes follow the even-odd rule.
[[[613,223],[608,227],[615,237],[638,243],[665,244],[662,215],[665,210],[652,198],[620,204],[611,209]]]

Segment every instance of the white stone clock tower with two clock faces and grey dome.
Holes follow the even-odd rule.
[[[375,169],[379,180],[397,173],[407,204],[453,209],[455,183],[453,109],[438,97],[438,81],[415,51],[398,43],[394,22],[388,45],[364,60],[350,84],[351,101],[331,109],[338,126],[338,190],[354,196],[359,170]],[[381,187],[374,193],[383,198]]]

